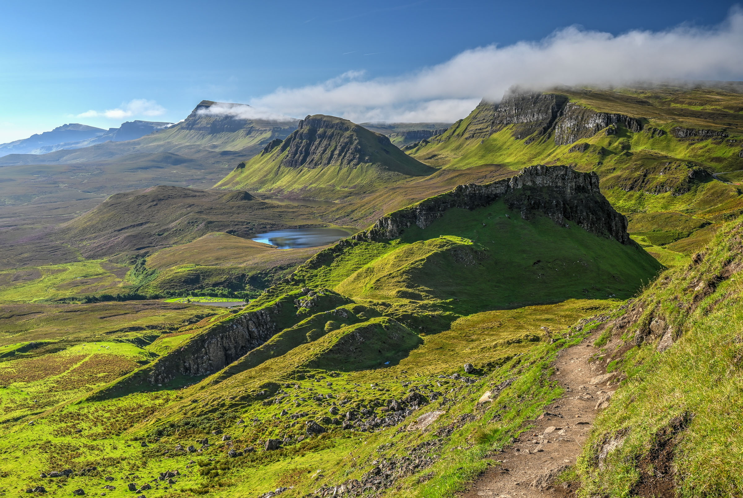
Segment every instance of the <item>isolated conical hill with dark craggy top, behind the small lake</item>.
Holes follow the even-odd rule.
[[[434,171],[384,135],[316,114],[300,121],[285,140],[271,141],[259,155],[240,163],[215,188],[344,198]]]

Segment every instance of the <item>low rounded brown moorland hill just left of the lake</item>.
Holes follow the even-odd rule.
[[[306,207],[271,204],[247,192],[158,186],[111,195],[54,235],[86,257],[183,244],[210,232],[247,236],[258,230],[324,225]]]

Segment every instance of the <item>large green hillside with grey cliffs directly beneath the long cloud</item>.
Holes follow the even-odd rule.
[[[743,208],[742,191],[716,180],[719,172],[743,169],[739,92],[739,85],[711,83],[516,90],[501,103],[483,101],[408,152],[454,169],[539,162],[597,172],[604,195],[629,217],[630,233],[661,261],[677,264]]]

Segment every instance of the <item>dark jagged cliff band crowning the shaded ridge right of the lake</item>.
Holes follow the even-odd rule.
[[[626,218],[617,213],[600,193],[594,172],[577,172],[568,166],[530,166],[511,178],[490,184],[459,185],[449,193],[436,195],[411,207],[379,219],[370,230],[350,239],[389,240],[399,237],[413,224],[425,228],[452,207],[474,210],[503,198],[523,219],[536,211],[558,224],[573,221],[591,233],[631,244]],[[339,242],[348,244],[349,239]]]

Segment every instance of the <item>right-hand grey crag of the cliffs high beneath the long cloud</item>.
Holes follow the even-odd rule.
[[[622,124],[631,132],[640,132],[643,129],[642,121],[635,117],[597,112],[577,103],[568,102],[554,126],[555,145],[570,145],[581,138],[592,137],[602,129],[618,124]]]

